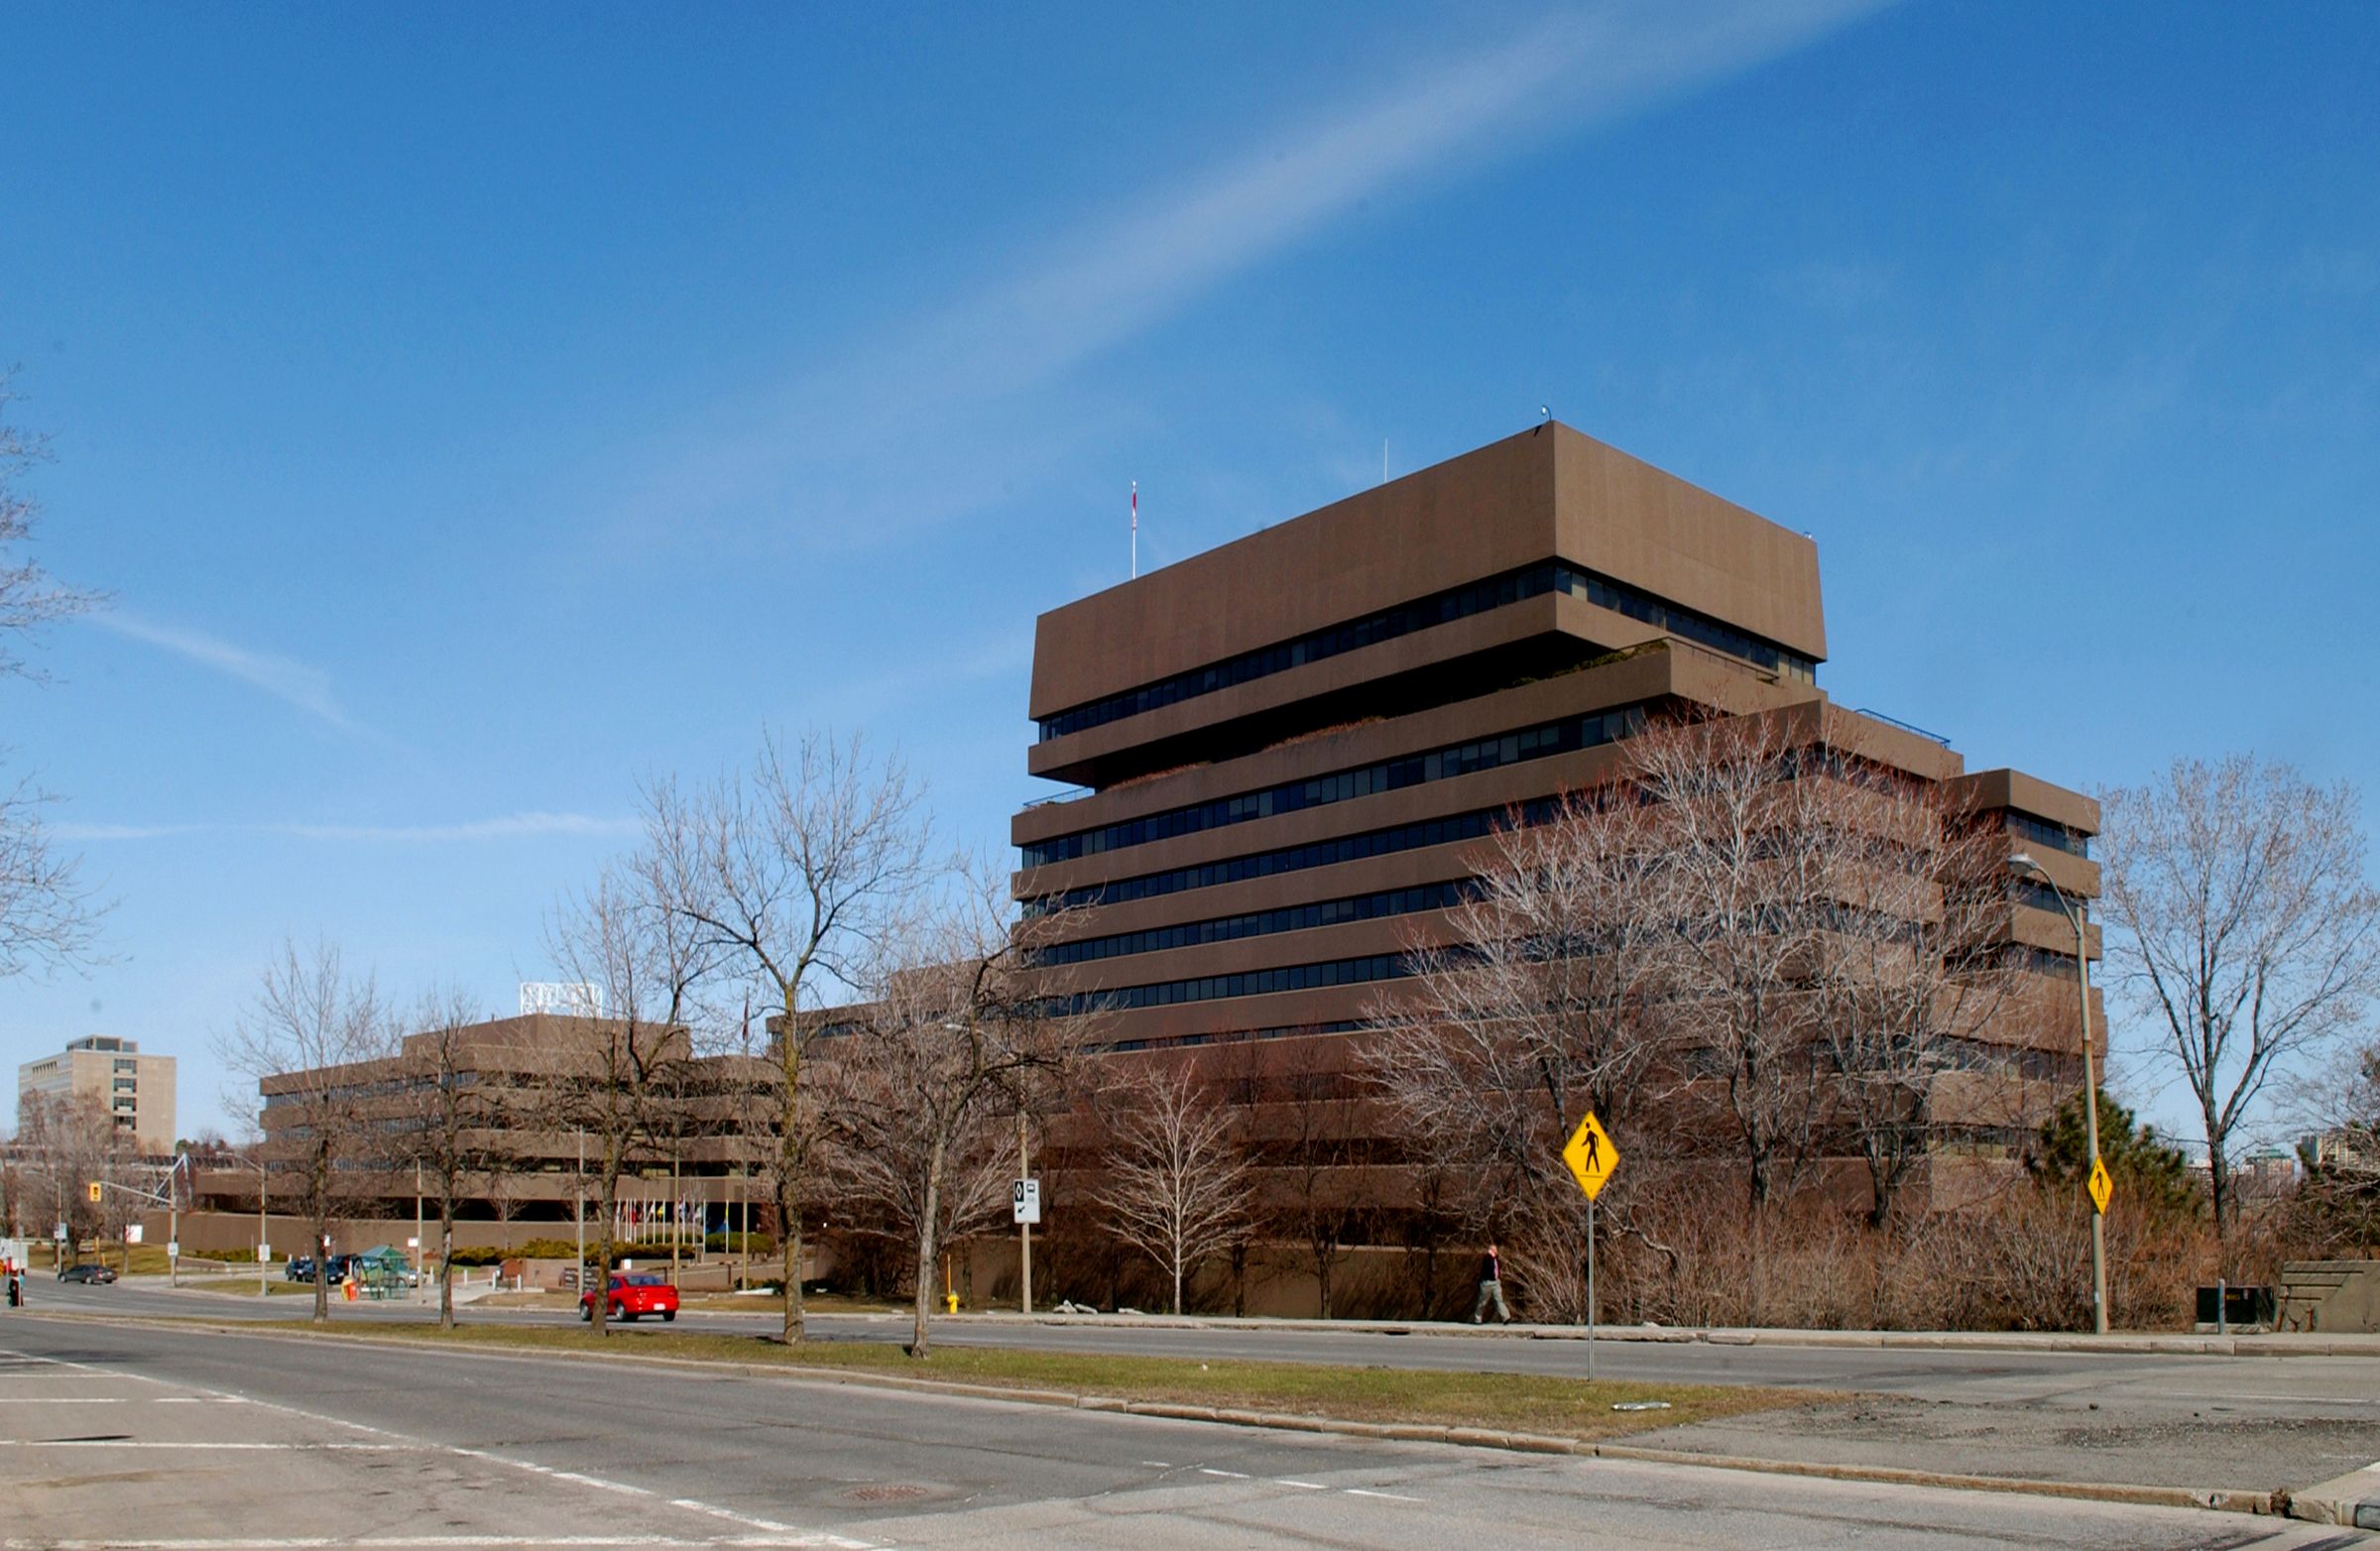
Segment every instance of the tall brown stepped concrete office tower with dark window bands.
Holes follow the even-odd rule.
[[[1652,649],[1597,661],[1628,647]],[[1045,614],[1028,768],[1085,790],[1014,816],[1016,894],[1083,906],[1047,963],[1111,1009],[1104,1044],[1345,1051],[1480,837],[1609,780],[1680,707],[1809,709],[1830,742],[1966,783],[2011,852],[2097,894],[2097,804],[1833,707],[1823,661],[1809,538],[1537,426]],[[2061,1049],[2033,1061],[2063,1080],[2071,928],[2018,892],[2011,942],[2044,992],[2066,975],[2042,997]]]

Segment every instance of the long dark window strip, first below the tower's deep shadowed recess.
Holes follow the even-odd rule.
[[[1311,780],[1288,780],[1276,787],[1264,787],[1261,792],[1216,797],[1214,802],[1197,802],[1185,809],[1166,809],[1164,814],[1150,814],[1145,818],[1126,818],[1123,823],[1109,823],[1097,830],[1054,835],[1052,840],[1023,847],[1023,866],[1033,868],[1052,861],[1073,861],[1076,856],[1097,856],[1102,852],[1147,844],[1152,840],[1197,835],[1202,830],[1219,830],[1233,823],[1295,814],[1299,809],[1349,802],[1354,797],[1373,797],[1378,792],[1395,792],[1399,787],[1423,785],[1430,780],[1449,780],[1454,776],[1492,771],[1528,759],[1571,754],[1618,742],[1621,737],[1633,737],[1642,730],[1642,707],[1597,711],[1592,716],[1568,716],[1540,728],[1504,733],[1502,737],[1480,737],[1473,742],[1449,745],[1445,749],[1430,749],[1428,754],[1383,759],[1354,771],[1338,771]]]

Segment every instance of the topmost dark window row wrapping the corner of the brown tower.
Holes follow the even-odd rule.
[[[1445,626],[1457,618],[1468,618],[1485,609],[1502,609],[1545,592],[1585,597],[1602,609],[1614,609],[1628,618],[1645,621],[1656,630],[1668,630],[1671,635],[1726,652],[1728,657],[1740,657],[1797,683],[1816,683],[1818,678],[1816,664],[1799,652],[1787,652],[1785,647],[1766,642],[1756,635],[1723,626],[1706,614],[1697,614],[1695,609],[1666,604],[1649,592],[1637,592],[1635,588],[1611,578],[1578,571],[1576,566],[1566,566],[1561,561],[1542,561],[1523,571],[1471,583],[1466,588],[1449,588],[1447,592],[1435,592],[1418,602],[1397,604],[1395,609],[1380,609],[1378,614],[1366,614],[1364,618],[1352,618],[1342,626],[1330,626],[1328,630],[1314,630],[1271,647],[1240,652],[1238,657],[1226,657],[1223,661],[1204,668],[1190,668],[1188,673],[1173,673],[1171,678],[1159,678],[1157,683],[1140,685],[1138,690],[1123,690],[1121,695],[1071,707],[1057,716],[1042,716],[1038,723],[1040,740],[1047,742],[1085,728],[1102,728],[1111,721],[1123,721],[1126,716],[1140,716],[1142,711],[1171,707],[1183,699],[1214,695],[1216,690],[1228,690],[1252,678],[1288,673],[1290,668],[1309,661],[1373,647],[1383,640],[1397,640],[1399,635],[1411,635],[1414,630]]]

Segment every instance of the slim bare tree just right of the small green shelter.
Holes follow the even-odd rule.
[[[459,990],[431,992],[414,1009],[400,1054],[397,1123],[412,1161],[438,1197],[438,1325],[455,1325],[455,1201],[474,1175],[514,1161],[521,1116],[505,1106],[478,1025],[486,1013]]]

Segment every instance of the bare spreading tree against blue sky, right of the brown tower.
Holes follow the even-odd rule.
[[[2156,1028],[2206,1137],[2216,1235],[2232,1225],[2230,1147],[2275,1075],[2366,1028],[2380,994],[2380,890],[2354,787],[2287,764],[2175,759],[2106,814],[2109,968]]]

